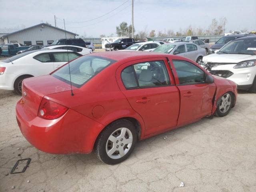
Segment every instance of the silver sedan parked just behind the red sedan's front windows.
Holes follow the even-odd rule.
[[[205,49],[194,43],[188,42],[174,42],[163,44],[156,48],[154,52],[174,54],[189,58],[197,63],[202,61],[203,56],[206,56]]]

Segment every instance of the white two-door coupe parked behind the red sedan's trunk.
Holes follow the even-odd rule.
[[[70,50],[34,50],[0,61],[0,89],[21,94],[22,80],[46,75],[69,60],[82,56]]]

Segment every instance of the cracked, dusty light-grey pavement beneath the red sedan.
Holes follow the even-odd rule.
[[[240,92],[226,117],[138,142],[114,166],[94,154],[52,155],[31,146],[16,123],[19,98],[0,90],[0,192],[256,192],[256,94]],[[10,174],[21,158],[32,159],[26,172]]]

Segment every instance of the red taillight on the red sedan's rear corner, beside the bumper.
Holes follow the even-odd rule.
[[[66,111],[67,107],[43,98],[38,110],[38,117],[52,120],[61,117]]]

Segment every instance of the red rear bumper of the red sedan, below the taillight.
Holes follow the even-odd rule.
[[[41,151],[52,154],[90,153],[104,125],[69,109],[55,120],[31,118],[20,101],[16,118],[26,140]]]

